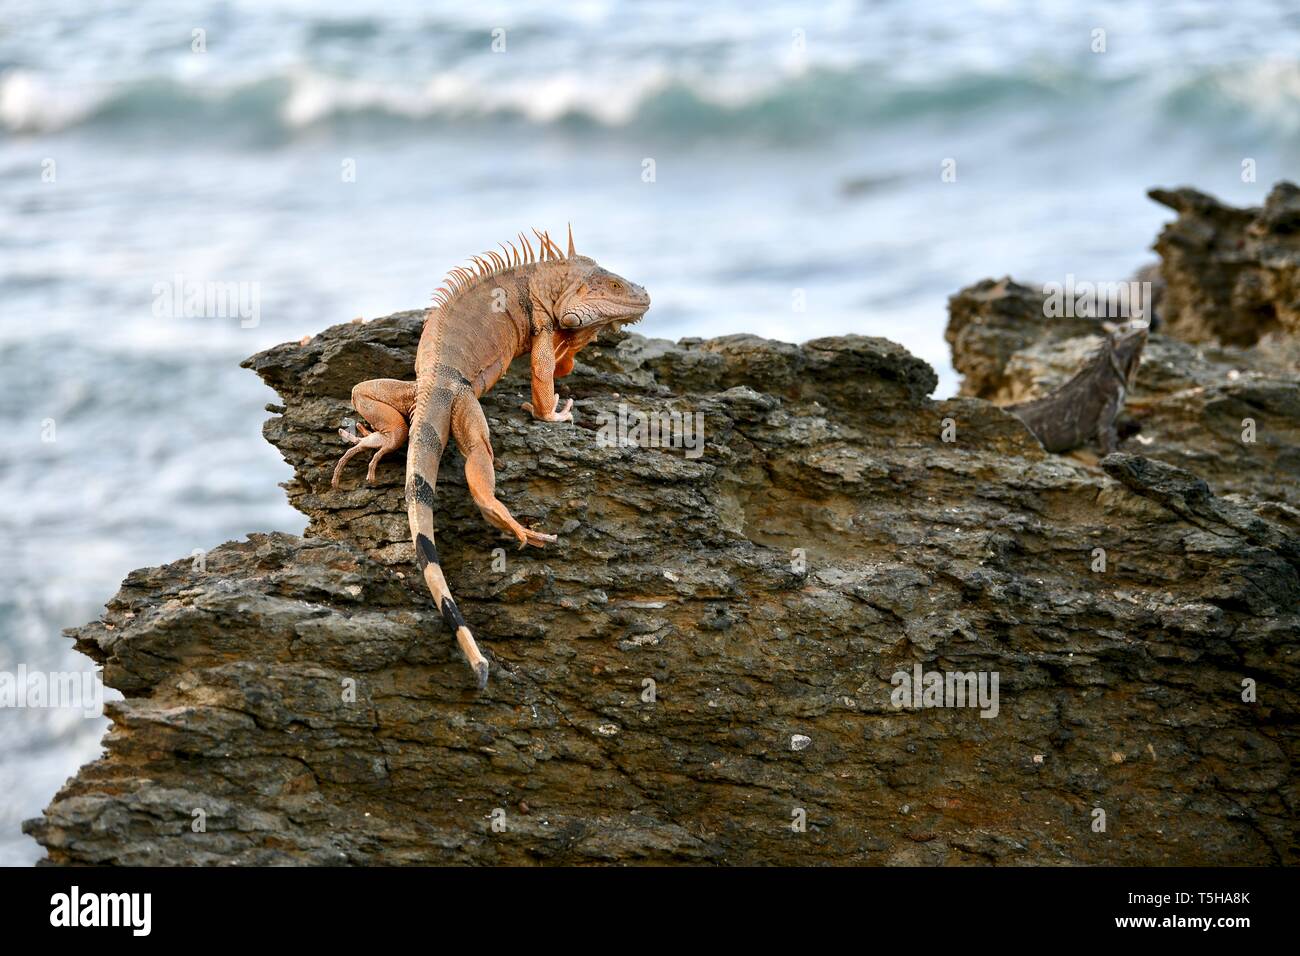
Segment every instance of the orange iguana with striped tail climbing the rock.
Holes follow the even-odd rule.
[[[520,355],[532,365],[532,402],[524,411],[541,421],[572,421],[573,399],[559,408],[555,378],[573,371],[573,356],[608,325],[638,321],[650,307],[646,290],[601,268],[573,250],[562,252],[547,233],[540,243],[519,234],[500,252],[471,256],[473,265],[454,268],[434,293],[415,358],[415,381],[374,378],[352,389],[352,407],[370,423],[360,434],[339,429],[352,442],[334,468],[338,488],[347,462],[374,449],[367,480],[380,460],[407,444],[406,502],[416,562],[425,584],[473,669],[480,689],[488,685],[488,661],[456,607],[433,544],[433,497],[438,463],[448,433],[465,458],[465,481],[490,524],[519,538],[519,546],[541,548],[554,535],[525,528],[497,499],[491,440],[480,397]]]

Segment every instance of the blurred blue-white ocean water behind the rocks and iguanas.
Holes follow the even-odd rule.
[[[1149,186],[1300,172],[1292,3],[365,7],[0,5],[0,671],[88,670],[60,630],[131,568],[300,531],[239,360],[519,230],[572,222],[645,334],[887,336],[949,394],[957,289],[1126,277]],[[0,864],[105,726],[0,709]]]

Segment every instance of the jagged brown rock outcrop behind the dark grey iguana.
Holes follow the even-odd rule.
[[[1157,242],[1160,272],[1139,273],[1157,285],[1161,332],[1147,343],[1119,433],[1122,450],[1188,468],[1217,494],[1258,498],[1300,531],[1300,337],[1288,332],[1300,325],[1286,317],[1296,307],[1290,263],[1300,261],[1287,212],[1294,193],[1279,183],[1264,209],[1232,209],[1192,190],[1153,191],[1180,216]],[[1260,278],[1270,269],[1277,274]],[[1247,310],[1243,289],[1265,298]],[[1102,323],[1046,317],[1045,298],[1041,286],[1004,278],[949,299],[946,337],[963,395],[997,405],[1037,398],[1096,351]],[[1261,310],[1280,317],[1251,324]]]

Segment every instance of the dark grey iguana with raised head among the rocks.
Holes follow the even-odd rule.
[[[1119,445],[1115,419],[1138,375],[1147,328],[1106,336],[1101,349],[1065,385],[1043,398],[1006,410],[1034,432],[1048,451],[1070,451],[1096,440],[1101,454]]]

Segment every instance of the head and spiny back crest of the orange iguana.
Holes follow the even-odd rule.
[[[485,282],[526,269],[533,299],[562,329],[588,329],[601,325],[623,325],[640,321],[650,308],[650,295],[636,282],[610,272],[594,259],[573,248],[573,229],[568,233],[568,252],[551,239],[550,233],[536,229],[537,248],[523,233],[519,245],[500,245],[500,252],[471,256],[472,267],[452,269],[434,293],[437,308],[450,308],[465,293]]]

